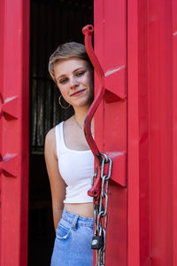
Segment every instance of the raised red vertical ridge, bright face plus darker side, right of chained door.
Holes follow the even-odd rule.
[[[150,265],[148,82],[148,3],[128,1],[128,266]]]

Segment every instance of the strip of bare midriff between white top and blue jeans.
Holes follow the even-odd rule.
[[[93,203],[65,203],[65,210],[76,215],[93,217]]]

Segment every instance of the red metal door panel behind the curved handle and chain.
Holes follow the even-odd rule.
[[[126,160],[120,161],[118,154],[127,153],[127,1],[96,0],[94,12],[95,51],[107,89],[96,111],[96,144],[101,152],[118,156],[109,184],[105,265],[126,266]],[[98,87],[96,77],[96,90]]]

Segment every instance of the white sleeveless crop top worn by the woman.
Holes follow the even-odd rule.
[[[56,126],[56,143],[59,173],[66,186],[64,203],[92,202],[88,191],[94,174],[94,156],[90,150],[75,151],[65,146],[64,122]]]

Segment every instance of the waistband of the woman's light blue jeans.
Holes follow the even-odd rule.
[[[94,225],[94,219],[92,217],[85,217],[81,215],[76,215],[73,213],[70,213],[68,211],[63,210],[62,219],[63,221],[70,223],[73,227],[73,229],[76,228],[76,225],[80,226],[89,226],[93,227]]]

